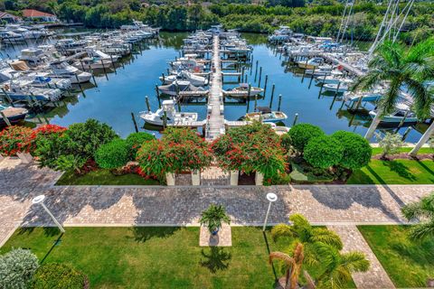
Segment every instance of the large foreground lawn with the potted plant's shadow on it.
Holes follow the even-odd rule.
[[[199,228],[20,228],[0,248],[32,249],[43,263],[66,263],[91,288],[272,288],[267,247],[256,227],[234,227],[232,247],[199,247]],[[270,250],[283,242],[269,238]],[[349,284],[354,288],[354,284]]]

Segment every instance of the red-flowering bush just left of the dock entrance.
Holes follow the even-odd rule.
[[[201,170],[211,161],[208,144],[188,128],[167,128],[160,140],[142,144],[137,152],[141,173],[159,178],[165,172]]]

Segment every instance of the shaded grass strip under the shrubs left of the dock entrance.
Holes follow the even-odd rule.
[[[77,175],[74,172],[62,174],[56,185],[158,185],[156,180],[146,180],[136,173],[114,175],[109,170],[97,171]]]

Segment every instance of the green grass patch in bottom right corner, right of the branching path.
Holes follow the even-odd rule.
[[[434,277],[434,240],[411,243],[410,226],[358,228],[397,287],[425,287]]]

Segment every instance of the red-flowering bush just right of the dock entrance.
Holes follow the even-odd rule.
[[[230,129],[212,143],[212,151],[224,171],[261,172],[272,178],[287,168],[278,135],[259,122]]]

